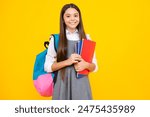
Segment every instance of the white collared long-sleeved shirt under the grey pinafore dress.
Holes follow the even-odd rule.
[[[79,41],[80,40],[77,29],[73,33],[66,30],[66,37],[68,40],[72,40],[72,41]],[[90,39],[90,36],[88,34],[86,34],[86,37],[87,37],[87,39]],[[48,46],[47,55],[46,55],[46,59],[45,59],[44,70],[46,72],[53,72],[51,67],[55,61],[56,61],[56,51],[54,49],[54,37],[51,36],[50,37],[50,43]],[[94,53],[92,63],[94,63],[96,66],[96,68],[94,70],[94,72],[96,72],[98,70],[98,65],[97,65],[95,53]]]

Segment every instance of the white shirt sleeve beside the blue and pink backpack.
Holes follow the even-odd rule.
[[[56,51],[54,49],[54,37],[50,37],[50,43],[47,50],[47,55],[44,63],[44,70],[46,72],[52,72],[52,64],[56,61]]]

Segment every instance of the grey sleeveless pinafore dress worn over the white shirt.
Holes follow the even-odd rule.
[[[76,42],[77,41],[68,40],[67,57],[70,57],[70,55],[74,53]],[[76,71],[73,65],[65,68],[64,80],[62,80],[61,72],[58,71],[52,99],[91,100],[92,94],[88,76],[84,76],[78,79],[76,77]]]

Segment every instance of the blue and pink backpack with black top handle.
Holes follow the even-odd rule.
[[[59,35],[54,34],[54,48],[57,52]],[[47,54],[47,45],[49,42],[44,42],[46,50],[36,56],[33,70],[33,82],[37,92],[44,97],[50,97],[53,94],[54,81],[56,81],[57,72],[47,73],[44,71],[44,63]]]

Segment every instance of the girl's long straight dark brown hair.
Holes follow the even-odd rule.
[[[59,47],[58,47],[58,51],[57,51],[57,62],[64,61],[64,60],[67,59],[68,43],[67,43],[67,38],[66,38],[66,25],[65,25],[63,16],[64,16],[65,11],[68,8],[74,8],[78,11],[79,18],[80,18],[80,22],[77,26],[79,37],[80,37],[80,39],[86,38],[84,28],[83,28],[80,9],[73,3],[64,5],[62,10],[61,10],[61,13],[60,13],[60,33],[59,33],[59,38],[60,39],[59,39]],[[64,79],[65,68],[63,68],[61,70],[61,75],[62,75],[62,78]]]

